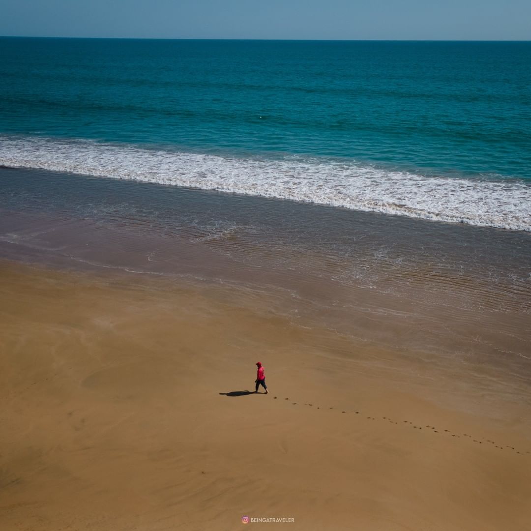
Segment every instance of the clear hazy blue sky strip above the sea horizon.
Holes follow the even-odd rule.
[[[531,40],[531,0],[0,0],[0,35]]]

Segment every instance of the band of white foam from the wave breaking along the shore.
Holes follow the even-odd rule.
[[[426,177],[317,158],[227,158],[13,136],[0,136],[0,164],[531,230],[531,186],[515,180]]]

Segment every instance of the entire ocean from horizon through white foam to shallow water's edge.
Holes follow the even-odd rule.
[[[531,382],[531,42],[1,38],[0,57],[3,258],[274,293]]]

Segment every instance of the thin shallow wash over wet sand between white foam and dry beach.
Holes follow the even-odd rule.
[[[3,258],[233,284],[304,326],[530,381],[527,232],[23,169],[0,193]]]

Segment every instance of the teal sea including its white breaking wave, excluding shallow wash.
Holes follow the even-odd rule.
[[[531,230],[531,42],[2,38],[0,164]]]

